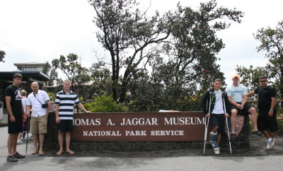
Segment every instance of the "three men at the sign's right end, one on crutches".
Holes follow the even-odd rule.
[[[253,134],[267,138],[267,150],[275,146],[275,134],[278,131],[276,117],[276,90],[268,85],[267,77],[259,79],[260,86],[248,93],[247,88],[239,83],[240,76],[232,76],[233,84],[221,90],[222,81],[214,80],[213,88],[202,97],[202,110],[209,118],[212,131],[209,134],[209,143],[215,154],[219,154],[221,134],[224,133],[225,119],[231,117],[231,140],[236,138],[236,116],[238,112],[250,114],[253,123]],[[258,112],[250,105],[248,98],[258,94]]]

